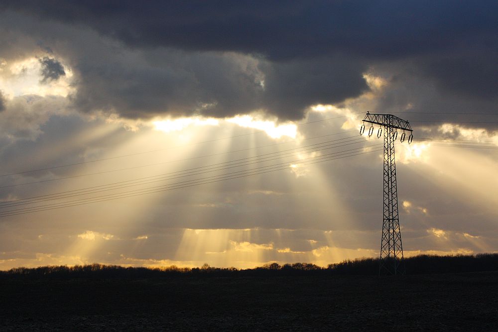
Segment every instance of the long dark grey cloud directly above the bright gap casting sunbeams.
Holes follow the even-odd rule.
[[[362,77],[366,65],[344,58],[271,63],[240,54],[153,53],[147,61],[81,59],[78,109],[116,109],[129,118],[224,117],[262,109],[280,119],[299,119],[309,105],[341,102],[368,90]]]

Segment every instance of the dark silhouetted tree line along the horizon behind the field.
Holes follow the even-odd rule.
[[[476,255],[418,255],[404,259],[406,274],[458,273],[498,271],[498,253]],[[311,263],[280,265],[276,262],[250,269],[220,268],[204,264],[201,267],[157,268],[124,267],[119,265],[52,265],[36,268],[17,267],[0,271],[0,278],[161,278],[161,277],[251,277],[292,275],[377,275],[379,258],[357,258],[327,267]]]

